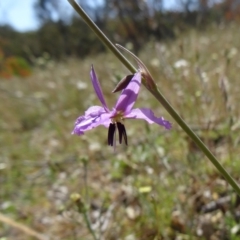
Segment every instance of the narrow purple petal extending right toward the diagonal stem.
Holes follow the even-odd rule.
[[[170,129],[172,124],[165,120],[163,117],[155,117],[152,110],[147,108],[136,108],[133,109],[129,114],[125,115],[125,118],[138,118],[147,121],[148,123],[157,123],[158,125],[164,126],[166,129]]]

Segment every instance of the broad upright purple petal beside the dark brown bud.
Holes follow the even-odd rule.
[[[134,103],[137,100],[137,96],[141,85],[141,73],[137,72],[134,74],[132,80],[128,86],[122,91],[118,101],[115,105],[115,110],[129,113],[132,110]]]

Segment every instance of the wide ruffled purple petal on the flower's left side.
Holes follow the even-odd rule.
[[[94,112],[94,108],[97,106],[90,107],[84,116],[80,116],[76,122],[72,134],[83,135],[84,132],[91,130],[99,125],[108,127],[111,123],[110,113],[106,113],[103,107],[99,107],[98,112]],[[86,114],[87,113],[87,114]]]

